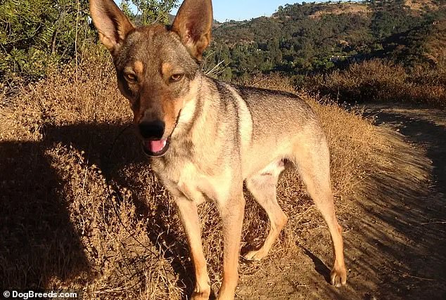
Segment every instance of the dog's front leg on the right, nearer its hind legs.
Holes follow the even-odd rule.
[[[240,191],[231,200],[217,202],[223,225],[223,282],[219,289],[220,300],[234,299],[238,281],[238,256],[240,255],[241,228],[245,211],[245,199]]]

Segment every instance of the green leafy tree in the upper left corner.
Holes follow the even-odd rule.
[[[88,0],[0,2],[0,81],[33,81],[77,58],[91,37]]]

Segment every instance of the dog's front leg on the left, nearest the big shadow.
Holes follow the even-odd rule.
[[[186,231],[187,242],[189,243],[191,259],[195,270],[196,283],[191,299],[208,300],[210,295],[210,280],[205,255],[203,254],[203,245],[201,244],[201,230],[197,206],[193,201],[185,197],[177,197],[175,203],[179,210],[184,231]]]

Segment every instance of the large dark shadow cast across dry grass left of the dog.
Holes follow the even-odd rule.
[[[70,197],[65,195],[70,190],[65,188],[69,180],[57,170],[69,166],[54,161],[48,153],[56,145],[84,151],[87,164],[101,169],[106,181],[147,188],[120,172],[129,164],[149,167],[131,126],[72,124],[46,126],[40,131],[44,138],[38,142],[0,141],[0,285],[8,289],[44,291],[54,280],[73,282],[79,276],[94,276],[84,254],[81,233],[77,224],[70,221]],[[58,168],[55,164],[59,164]],[[136,198],[134,204],[137,218],[147,219],[146,199]],[[167,215],[170,209],[169,205],[158,205],[155,215]],[[179,241],[168,230],[167,221],[151,224],[148,237],[170,261],[178,275],[177,285],[189,295],[193,289],[193,268],[180,259],[187,257],[186,242]]]

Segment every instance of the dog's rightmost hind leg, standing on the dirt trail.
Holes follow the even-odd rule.
[[[340,287],[347,281],[343,254],[342,228],[336,220],[330,182],[330,155],[324,136],[312,135],[311,143],[295,145],[295,164],[307,191],[329,226],[333,242],[334,266],[331,284]]]

